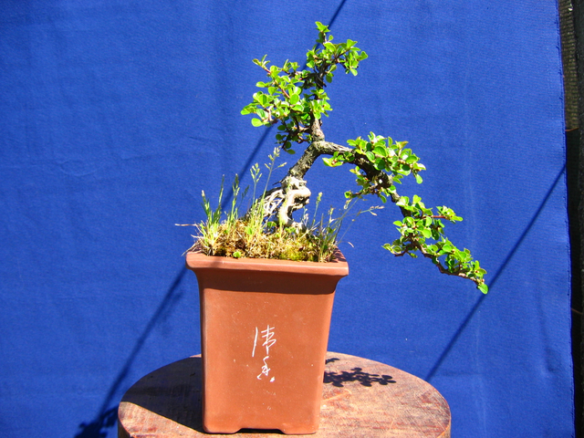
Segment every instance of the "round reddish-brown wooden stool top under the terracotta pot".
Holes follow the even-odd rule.
[[[319,437],[450,437],[450,409],[429,383],[380,362],[327,354]],[[268,438],[277,431],[207,434],[201,421],[201,358],[171,363],[128,390],[118,410],[120,438]]]

